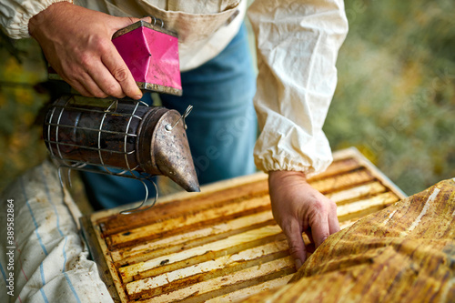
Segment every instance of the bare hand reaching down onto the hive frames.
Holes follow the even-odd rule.
[[[308,251],[302,233],[319,247],[329,235],[339,231],[337,206],[311,187],[301,172],[269,172],[268,187],[273,217],[288,237],[290,254],[296,268],[300,268]]]

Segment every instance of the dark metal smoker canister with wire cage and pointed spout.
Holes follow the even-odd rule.
[[[62,167],[140,180],[164,175],[199,191],[186,115],[134,100],[62,96],[47,111],[43,132]]]

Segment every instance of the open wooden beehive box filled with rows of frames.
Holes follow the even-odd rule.
[[[288,244],[270,210],[268,176],[255,174],[162,198],[150,210],[83,217],[88,247],[118,302],[225,302],[288,282]],[[347,227],[405,197],[354,148],[309,180]],[[308,239],[306,239],[308,241]]]

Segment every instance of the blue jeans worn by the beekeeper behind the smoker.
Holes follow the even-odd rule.
[[[182,73],[181,78],[183,96],[160,97],[163,106],[177,109],[180,114],[188,105],[194,106],[186,122],[199,183],[255,172],[256,79],[245,25],[218,56]],[[117,207],[145,197],[144,186],[135,179],[86,172],[82,177],[87,196],[96,209]],[[155,188],[146,183],[149,197],[154,197]]]

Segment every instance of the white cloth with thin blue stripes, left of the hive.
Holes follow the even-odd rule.
[[[14,243],[6,237],[9,199],[14,200]],[[113,301],[95,262],[87,260],[69,209],[80,213],[63,194],[56,167],[45,161],[29,170],[0,194],[0,205],[0,302]],[[14,261],[6,255],[10,249]],[[10,271],[14,289],[6,288]],[[8,295],[11,290],[14,296]]]

